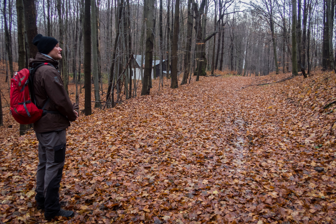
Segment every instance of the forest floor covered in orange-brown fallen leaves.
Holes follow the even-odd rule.
[[[336,75],[275,82],[290,76],[165,80],[160,92],[153,80],[149,96],[80,114],[60,187],[75,217],[54,223],[336,223],[336,106],[324,109]],[[46,223],[34,200],[37,139],[20,137],[2,104],[0,221]]]

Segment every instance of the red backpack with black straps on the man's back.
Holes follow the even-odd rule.
[[[45,102],[42,109],[37,108],[35,103],[33,77],[37,68],[42,65],[53,66],[50,63],[41,63],[31,69],[24,68],[16,72],[11,79],[10,111],[14,119],[20,124],[31,124],[36,122],[42,117],[44,108],[49,103],[50,98]]]

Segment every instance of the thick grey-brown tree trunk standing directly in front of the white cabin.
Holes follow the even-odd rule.
[[[146,0],[146,19],[147,19],[147,31],[146,31],[146,54],[145,54],[145,66],[142,82],[141,96],[150,94],[150,82],[152,78],[152,62],[153,62],[153,47],[154,47],[154,0]]]

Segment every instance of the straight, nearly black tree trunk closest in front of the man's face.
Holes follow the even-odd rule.
[[[91,0],[84,0],[84,108],[91,115]]]

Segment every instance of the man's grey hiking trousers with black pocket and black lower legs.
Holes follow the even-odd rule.
[[[66,130],[35,133],[39,141],[35,200],[39,207],[44,205],[44,215],[49,217],[60,210],[58,191],[65,162]]]

